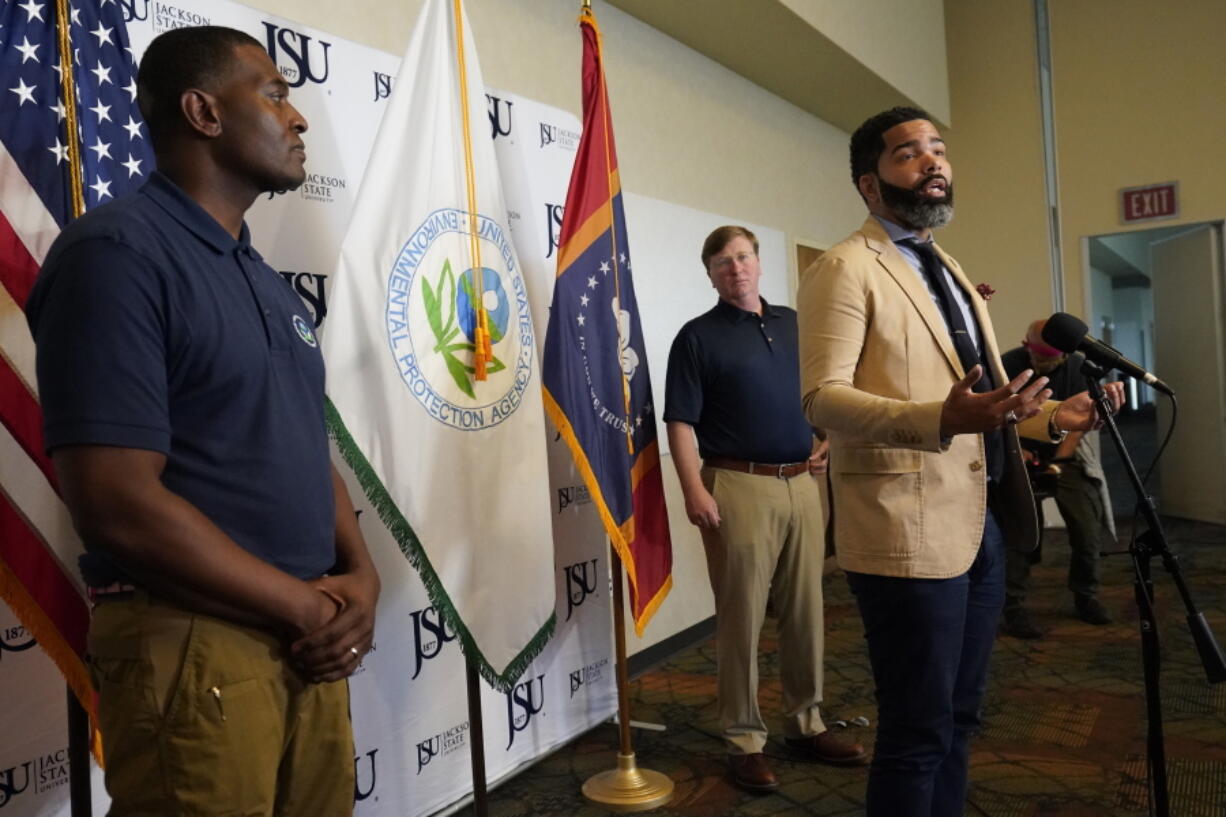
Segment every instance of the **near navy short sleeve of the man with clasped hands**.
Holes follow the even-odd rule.
[[[47,450],[170,450],[168,293],[152,264],[115,240],[64,248],[43,269],[29,324]]]

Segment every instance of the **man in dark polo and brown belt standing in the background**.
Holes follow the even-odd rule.
[[[810,470],[824,471],[825,450],[801,411],[796,312],[759,294],[758,239],[744,227],[712,232],[702,266],[720,302],[673,341],[664,422],[715,593],[720,727],[732,774],[750,791],[770,791],[779,781],[763,754],[758,709],[767,596],[779,615],[787,745],[826,763],[863,765],[867,756],[829,734],[818,712],[825,545]]]

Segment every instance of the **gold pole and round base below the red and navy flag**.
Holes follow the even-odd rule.
[[[585,6],[587,2],[585,2]],[[622,557],[609,541],[613,567],[613,642],[617,649],[617,768],[600,772],[584,783],[584,796],[609,811],[651,811],[672,800],[673,781],[667,774],[640,769],[630,743],[630,678],[625,662],[625,601],[622,597]]]

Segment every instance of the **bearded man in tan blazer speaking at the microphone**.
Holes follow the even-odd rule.
[[[801,391],[830,435],[835,550],[877,686],[868,816],[951,817],[1004,542],[1037,539],[1018,432],[1053,440],[1098,421],[1084,393],[1057,404],[1046,378],[1004,377],[984,298],[932,243],[953,217],[953,171],[928,114],[868,119],[851,163],[870,216],[801,285]]]

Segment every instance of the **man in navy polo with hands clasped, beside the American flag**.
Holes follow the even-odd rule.
[[[302,184],[306,121],[228,28],[162,34],[137,88],[159,172],[70,224],[27,304],[110,815],[349,815],[379,579],[313,321],[243,221]]]

